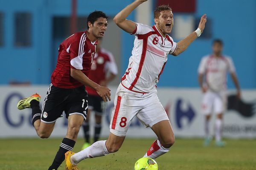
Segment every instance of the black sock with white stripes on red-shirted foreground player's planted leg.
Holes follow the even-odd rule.
[[[68,138],[64,138],[60,144],[60,148],[52,162],[52,165],[49,167],[48,170],[57,170],[57,168],[61,165],[61,163],[65,159],[65,153],[69,150],[73,150],[76,141],[73,141]]]

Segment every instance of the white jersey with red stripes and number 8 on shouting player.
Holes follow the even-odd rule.
[[[156,91],[167,56],[175,52],[177,43],[169,35],[163,37],[156,26],[136,25],[132,56],[121,83],[130,91],[149,93]]]

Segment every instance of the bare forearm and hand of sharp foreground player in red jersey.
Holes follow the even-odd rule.
[[[109,101],[111,100],[110,89],[106,87],[102,87],[98,85],[96,82],[93,82],[81,70],[70,68],[70,75],[74,79],[81,82],[83,85],[89,86],[90,88],[93,88],[94,90],[96,90],[99,96],[101,96],[105,102],[108,102],[108,100]]]

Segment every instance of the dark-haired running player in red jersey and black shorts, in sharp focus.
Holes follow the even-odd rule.
[[[78,32],[64,40],[58,49],[58,60],[52,73],[52,82],[41,108],[41,96],[34,94],[20,100],[18,109],[32,108],[32,124],[41,138],[49,138],[55,121],[63,111],[68,119],[67,135],[62,140],[52,165],[48,170],[57,170],[65,159],[65,153],[72,150],[82,122],[87,116],[87,92],[84,86],[97,91],[106,102],[110,90],[88,78],[95,55],[97,39],[107,30],[108,17],[102,11],[94,11],[87,18],[87,31]]]

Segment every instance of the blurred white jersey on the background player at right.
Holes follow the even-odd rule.
[[[198,67],[198,73],[206,76],[209,90],[215,92],[227,89],[227,71],[230,73],[235,73],[236,71],[232,59],[227,56],[205,56],[201,59]]]

